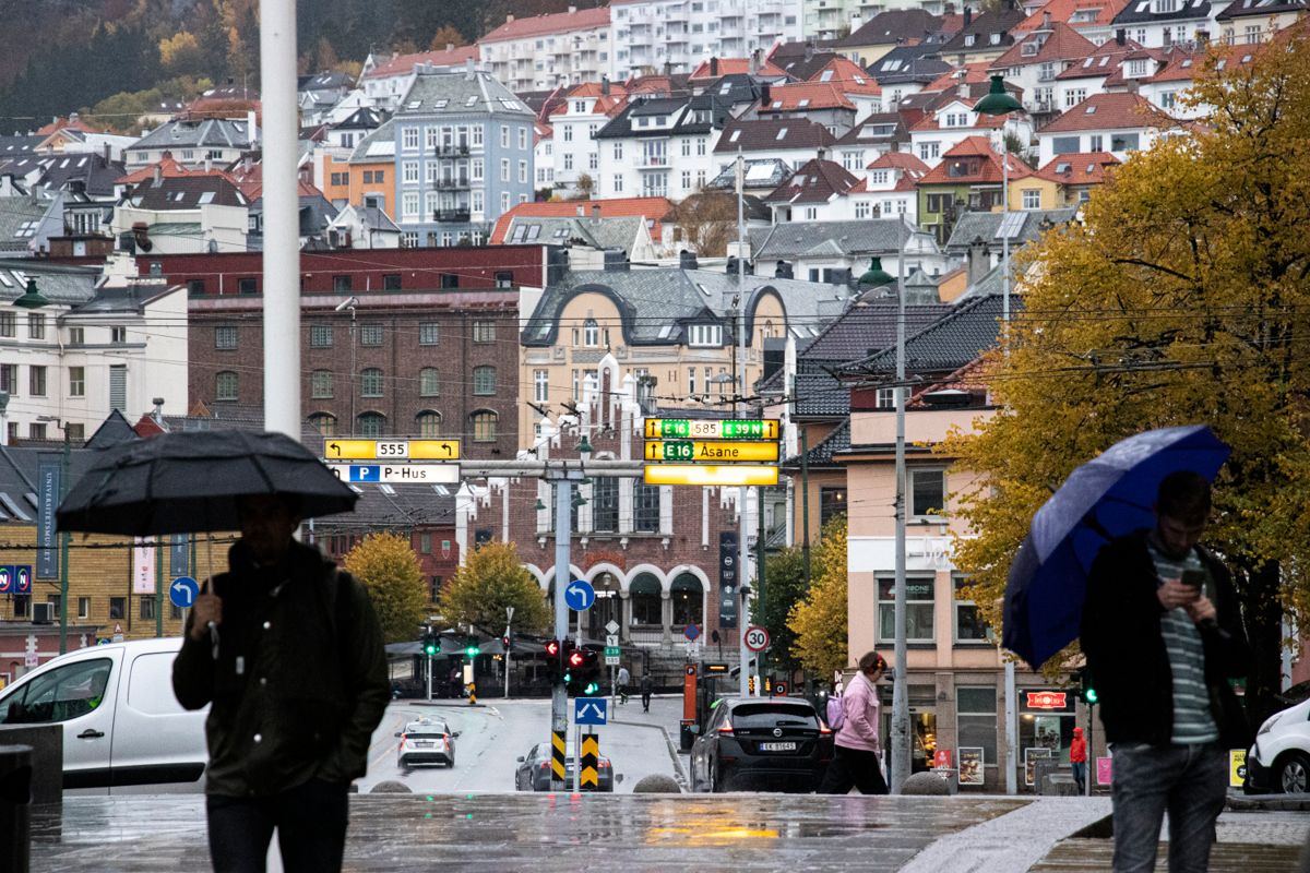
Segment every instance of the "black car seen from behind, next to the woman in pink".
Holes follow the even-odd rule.
[[[692,791],[819,788],[833,736],[803,698],[724,698],[692,743]]]

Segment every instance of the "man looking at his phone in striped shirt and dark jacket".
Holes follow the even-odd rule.
[[[1200,546],[1210,484],[1165,478],[1155,525],[1106,544],[1087,577],[1081,643],[1114,760],[1116,873],[1205,870],[1227,793],[1227,749],[1251,745],[1230,678],[1251,653],[1233,579]]]

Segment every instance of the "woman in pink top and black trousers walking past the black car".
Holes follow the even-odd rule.
[[[836,754],[824,774],[820,794],[845,794],[852,787],[862,794],[886,794],[882,742],[878,739],[879,712],[876,682],[887,670],[887,661],[876,652],[859,658],[859,671],[841,696],[845,721],[837,729]]]

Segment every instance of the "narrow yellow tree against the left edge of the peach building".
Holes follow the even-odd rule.
[[[811,575],[810,590],[787,619],[796,637],[791,653],[807,670],[827,679],[848,662],[845,513],[833,516],[823,526],[812,554]]]

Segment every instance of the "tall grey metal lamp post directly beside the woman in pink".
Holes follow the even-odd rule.
[[[896,677],[892,679],[892,784],[899,794],[910,770],[909,685],[905,652],[905,221],[896,230]]]

